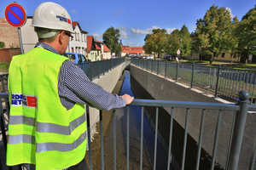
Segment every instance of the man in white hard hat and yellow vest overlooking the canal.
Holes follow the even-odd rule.
[[[109,94],[64,54],[73,33],[65,8],[42,3],[33,14],[36,47],[9,67],[7,165],[26,169],[84,169],[84,104],[101,110],[129,105],[128,94]]]

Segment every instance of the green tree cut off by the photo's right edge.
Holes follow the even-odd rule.
[[[248,54],[256,55],[256,5],[245,14],[236,28],[238,48],[246,59]]]

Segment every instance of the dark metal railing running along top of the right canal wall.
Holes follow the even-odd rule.
[[[131,59],[131,64],[172,78],[186,82],[190,88],[197,86],[214,93],[215,97],[224,95],[236,99],[238,92],[247,91],[250,103],[256,104],[256,71],[238,70],[218,67],[170,63],[153,59]]]

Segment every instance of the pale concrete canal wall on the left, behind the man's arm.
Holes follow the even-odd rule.
[[[109,93],[112,93],[113,88],[119,81],[119,77],[122,75],[125,70],[125,63],[115,67],[112,71],[109,71],[104,76],[93,80],[96,84],[102,86],[104,90]],[[90,107],[90,130],[91,130],[91,140],[93,139],[93,135],[96,133],[96,123],[99,122],[100,114],[99,110]]]

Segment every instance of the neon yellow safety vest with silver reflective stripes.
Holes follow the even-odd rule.
[[[75,104],[67,111],[58,95],[58,74],[66,59],[44,48],[13,58],[7,165],[29,163],[37,170],[60,170],[84,159],[84,105]]]

